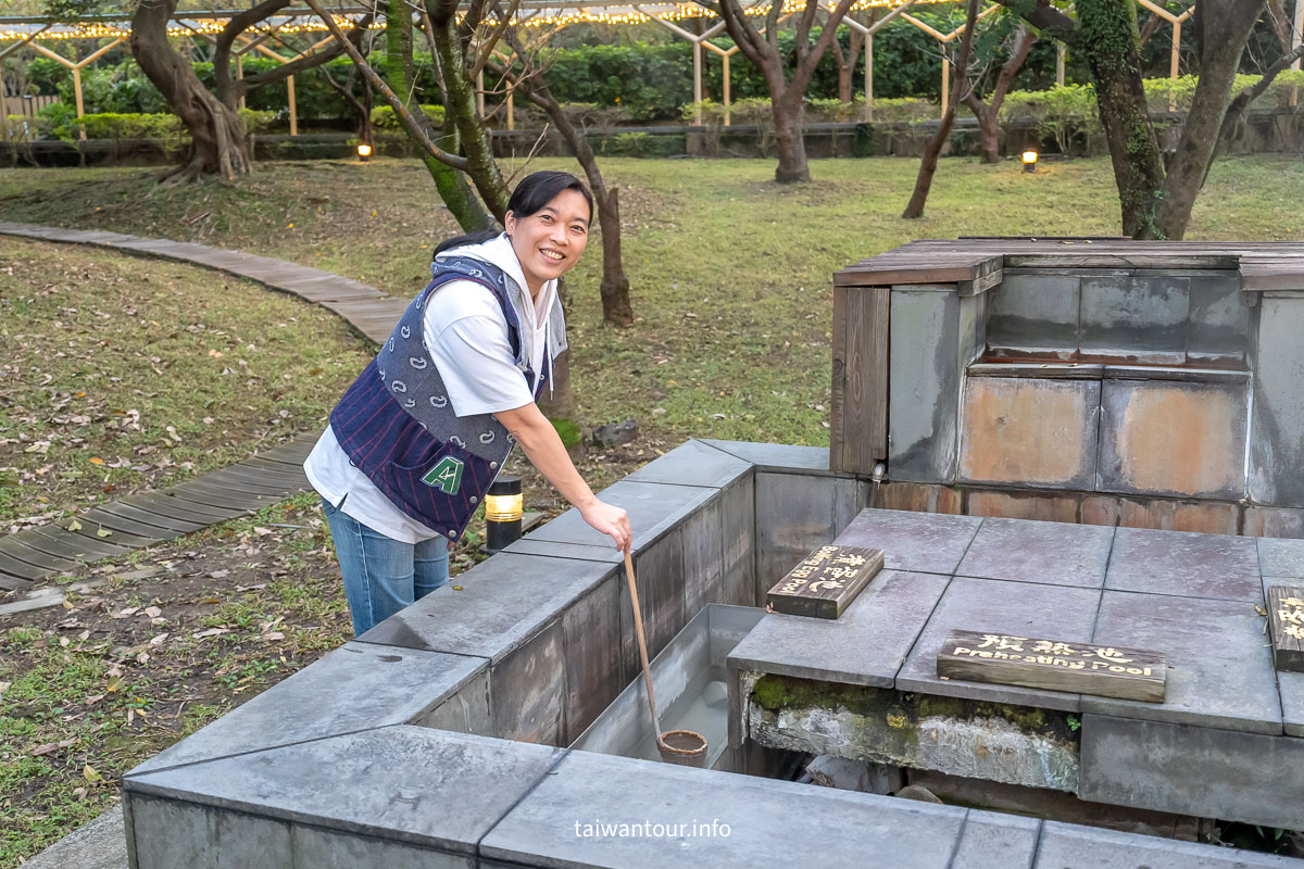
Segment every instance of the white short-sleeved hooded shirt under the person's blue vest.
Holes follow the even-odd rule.
[[[494,264],[518,287],[526,285],[506,233],[482,245],[447,253],[454,251]],[[520,339],[536,379],[544,366],[548,313],[556,293],[557,281],[545,283],[535,305],[526,306],[527,322],[520,323]],[[480,284],[455,280],[430,293],[422,313],[422,337],[459,417],[514,410],[535,400],[535,383],[527,383],[515,365],[502,309],[493,293]],[[304,463],[304,473],[313,489],[340,512],[391,539],[420,543],[442,537],[395,507],[353,466],[329,425]]]

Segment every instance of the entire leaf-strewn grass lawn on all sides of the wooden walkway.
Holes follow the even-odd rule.
[[[815,162],[797,188],[775,185],[768,160],[602,168],[621,188],[636,322],[601,324],[595,238],[570,280],[578,417],[585,430],[636,417],[643,434],[589,448],[580,468],[595,487],[689,436],[827,444],[829,274],[850,262],[922,237],[1118,232],[1104,159],[1034,176],[944,160],[918,221],[898,218],[914,160]],[[167,190],[153,177],[0,171],[0,219],[243,249],[394,296],[424,285],[430,248],[455,232],[416,162],[271,163],[239,184]],[[1297,158],[1226,160],[1187,237],[1300,240],[1301,201]],[[252,284],[3,238],[0,344],[0,529],[316,429],[369,354],[333,315]],[[527,491],[533,507],[561,507],[537,478]],[[0,619],[0,866],[349,633],[312,496],[59,581],[70,580],[99,584],[67,608]]]

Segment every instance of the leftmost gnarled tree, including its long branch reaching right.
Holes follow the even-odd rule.
[[[184,162],[164,175],[163,181],[172,184],[193,181],[206,173],[233,180],[239,175],[248,173],[253,164],[244,124],[236,113],[240,98],[254,87],[319,66],[339,55],[340,50],[335,47],[299,57],[249,78],[232,78],[231,50],[236,39],[289,3],[291,0],[263,0],[252,9],[232,16],[214,44],[213,69],[216,93],[213,93],[196,76],[189,59],[177,53],[168,42],[167,25],[176,12],[177,0],[140,0],[132,14],[132,35],[128,39],[132,56],[163,94],[172,113],[181,119],[190,133],[190,147]],[[368,14],[349,38],[357,40],[369,22]]]

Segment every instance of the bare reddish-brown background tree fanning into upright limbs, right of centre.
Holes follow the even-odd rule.
[[[775,150],[778,151],[778,168],[775,180],[780,184],[810,181],[810,165],[806,162],[806,142],[802,138],[802,102],[810,85],[815,66],[837,36],[837,26],[855,0],[838,0],[837,7],[828,13],[819,39],[811,44],[811,29],[820,10],[819,0],[806,0],[797,13],[797,64],[792,77],[785,70],[784,55],[778,50],[778,20],[784,12],[784,0],[771,0],[765,13],[764,35],[743,13],[739,0],[700,0],[702,5],[724,18],[725,29],[734,44],[760,70],[769,91],[769,107],[775,119]]]

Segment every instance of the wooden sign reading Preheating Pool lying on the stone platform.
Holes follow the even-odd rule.
[[[1151,704],[1163,702],[1167,670],[1158,651],[973,631],[949,632],[938,653],[938,675],[943,679]]]

